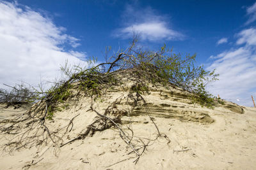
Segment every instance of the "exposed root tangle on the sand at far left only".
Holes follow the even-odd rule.
[[[54,146],[54,154],[57,155],[59,150],[59,143],[63,141],[63,136],[67,133],[68,128],[70,130],[73,127],[72,118],[68,125],[58,129],[57,131],[51,131],[48,124],[45,124],[45,119],[47,117],[48,104],[46,101],[35,104],[30,110],[28,110],[23,115],[15,117],[10,120],[3,120],[0,122],[0,132],[1,134],[12,135],[6,138],[8,141],[4,145],[4,152],[12,153],[20,148],[32,148],[35,146],[40,148],[49,145],[51,142]],[[20,131],[22,129],[22,131]],[[61,131],[66,130],[63,133]],[[70,131],[69,130],[69,131]],[[13,136],[14,135],[14,136]]]

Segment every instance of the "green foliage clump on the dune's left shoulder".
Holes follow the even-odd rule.
[[[90,60],[90,64],[96,60]],[[49,104],[47,118],[52,119],[55,111],[61,111],[68,107],[65,103],[67,99],[73,96],[72,90],[76,89],[83,92],[86,96],[94,96],[98,99],[102,95],[104,86],[111,86],[117,83],[117,80],[112,75],[105,75],[101,72],[99,66],[91,68],[83,68],[79,66],[70,67],[66,63],[61,67],[61,71],[65,74],[66,80],[61,80],[54,87],[47,90],[45,99]],[[60,104],[62,106],[60,107]]]

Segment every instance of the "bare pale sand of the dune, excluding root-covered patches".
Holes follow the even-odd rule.
[[[211,110],[192,104],[186,99],[186,92],[171,91],[153,88],[150,94],[143,94],[151,117],[170,142],[163,136],[156,141],[148,140],[157,136],[157,130],[140,108],[131,117],[122,118],[123,122],[131,120],[134,139],[140,137],[148,143],[136,164],[136,155],[129,154],[131,148],[120,138],[118,130],[111,127],[61,147],[57,156],[51,143],[40,150],[32,147],[1,152],[0,169],[256,169],[256,108],[225,102]],[[93,106],[102,113],[121,96],[117,108],[127,110],[122,102],[127,94],[125,90],[109,91]],[[88,99],[84,98],[76,106],[56,113],[49,125],[64,126],[78,115],[72,131],[64,138],[67,142],[97,116],[89,108]],[[24,111],[24,108],[2,108],[0,116],[3,119]],[[122,128],[129,132],[127,126],[129,123]],[[0,150],[6,138],[8,134],[0,135]]]

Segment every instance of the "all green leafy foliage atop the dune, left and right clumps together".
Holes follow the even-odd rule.
[[[67,89],[72,82],[78,82],[80,90],[89,96],[101,96],[102,87],[105,85],[113,85],[118,83],[115,76],[108,74],[109,71],[116,71],[118,69],[132,69],[136,78],[147,80],[152,83],[162,83],[166,86],[168,83],[180,87],[183,90],[191,92],[191,99],[195,103],[202,106],[212,108],[214,100],[205,90],[207,83],[218,80],[218,74],[214,71],[205,71],[204,66],[196,66],[196,55],[186,55],[182,57],[180,53],[173,53],[172,50],[166,49],[166,45],[162,46],[159,52],[152,52],[150,50],[143,50],[142,48],[134,49],[134,42],[130,48],[124,50],[122,53],[117,53],[106,63],[101,63],[98,66],[93,66],[96,60],[93,58],[88,61],[92,64],[89,69],[76,66],[73,69],[70,67],[62,67],[69,80],[65,87],[54,89],[56,95],[53,95],[54,101],[65,101],[70,97]],[[106,54],[109,52],[106,48]],[[112,60],[112,62],[111,62]],[[109,66],[106,71],[106,66]],[[66,88],[67,87],[67,88]],[[104,89],[104,88],[103,88]],[[145,83],[139,83],[131,88],[132,92],[142,93],[148,91]]]

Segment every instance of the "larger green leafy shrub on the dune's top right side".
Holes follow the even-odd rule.
[[[180,53],[166,50],[166,45],[159,52],[138,49],[126,55],[122,67],[136,68],[140,78],[152,83],[172,83],[183,90],[191,92],[191,99],[196,103],[212,108],[214,100],[205,90],[207,83],[218,80],[218,74],[205,71],[204,66],[196,66],[196,55],[182,57]]]

